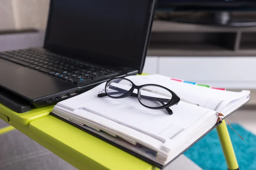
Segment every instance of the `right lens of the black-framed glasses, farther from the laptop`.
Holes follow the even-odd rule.
[[[157,108],[166,105],[172,99],[172,93],[159,86],[143,86],[139,91],[139,100],[143,105]]]

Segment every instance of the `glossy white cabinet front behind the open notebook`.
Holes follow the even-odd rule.
[[[219,88],[256,89],[256,57],[147,57],[145,68]]]

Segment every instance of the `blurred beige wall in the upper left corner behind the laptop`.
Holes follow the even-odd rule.
[[[50,0],[0,0],[0,30],[45,29]]]

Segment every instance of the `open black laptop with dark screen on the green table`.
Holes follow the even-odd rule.
[[[0,53],[0,88],[37,108],[141,74],[156,0],[51,0],[42,48]]]

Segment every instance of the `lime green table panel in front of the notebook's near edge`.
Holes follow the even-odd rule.
[[[157,167],[54,116],[29,124],[36,136],[96,170],[157,170]],[[76,165],[74,165],[76,166]],[[81,166],[80,166],[81,167]]]

